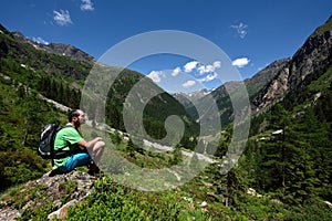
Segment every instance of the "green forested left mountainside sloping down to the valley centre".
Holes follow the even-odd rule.
[[[90,71],[93,67],[100,69],[101,72],[107,70],[107,75],[111,77],[114,75],[116,78],[112,86],[108,86],[108,96],[104,97],[107,102],[105,122],[113,128],[125,130],[122,122],[123,104],[133,85],[144,77],[143,74],[127,69],[122,69],[118,73],[117,67],[106,67],[94,62],[90,55],[72,45],[38,44],[19,32],[9,32],[3,27],[0,38],[0,71],[4,75],[10,76],[18,84],[22,83],[43,96],[72,108],[80,105],[81,90]],[[156,87],[152,81],[146,81],[146,83],[151,85],[148,86],[151,88]],[[158,91],[162,90],[158,88]],[[144,124],[149,135],[154,138],[165,136],[164,119],[167,117],[165,109],[172,109],[172,113],[185,119],[186,138],[183,141],[188,144],[188,138],[197,134],[198,125],[167,93],[155,96],[146,107]]]

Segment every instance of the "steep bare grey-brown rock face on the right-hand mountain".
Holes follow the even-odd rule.
[[[310,36],[288,65],[281,69],[276,77],[253,98],[255,110],[266,109],[274,101],[281,99],[288,92],[297,88],[308,75],[326,69],[331,64],[332,31]]]

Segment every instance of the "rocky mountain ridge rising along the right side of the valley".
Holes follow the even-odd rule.
[[[332,61],[332,17],[317,28],[313,34],[308,36],[302,46],[291,57],[272,62],[252,77],[242,83],[247,87],[252,114],[259,114],[269,109],[276,102],[281,101],[287,94],[304,81],[307,76],[319,70],[326,69]],[[318,30],[324,30],[318,31]],[[232,122],[232,105],[229,93],[237,93],[241,82],[227,82],[211,92],[219,107],[222,125]],[[226,90],[226,85],[228,91]],[[206,108],[205,97],[197,101],[196,108]],[[195,118],[195,107],[186,106],[187,112]]]

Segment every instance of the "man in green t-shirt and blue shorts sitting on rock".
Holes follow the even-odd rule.
[[[81,124],[85,123],[85,114],[83,110],[70,110],[68,119],[69,123],[66,126],[59,130],[55,136],[54,150],[69,150],[70,155],[60,159],[53,159],[53,171],[55,173],[66,173],[76,167],[87,165],[90,167],[89,175],[94,176],[98,173],[98,162],[105,143],[102,141],[101,137],[96,137],[90,141],[86,141],[82,137],[79,128]]]

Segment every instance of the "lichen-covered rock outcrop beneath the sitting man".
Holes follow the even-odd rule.
[[[82,171],[50,176],[29,181],[17,192],[9,192],[0,202],[0,220],[31,219],[33,211],[49,206],[48,219],[62,219],[69,207],[79,203],[94,190],[95,178]],[[28,214],[29,213],[29,214]]]

